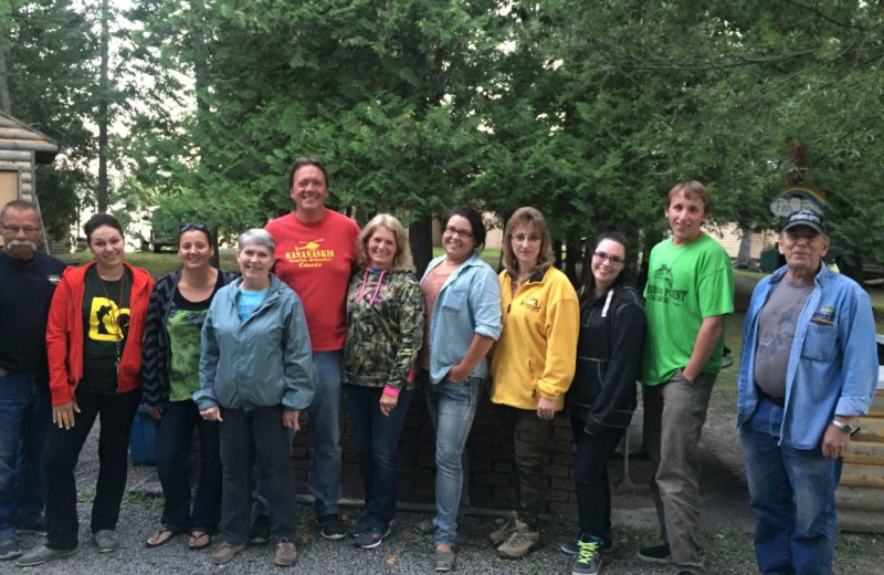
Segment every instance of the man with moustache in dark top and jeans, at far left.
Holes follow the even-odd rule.
[[[10,201],[0,224],[0,558],[11,560],[21,555],[17,531],[45,530],[46,316],[64,263],[36,250],[41,226],[32,203]]]

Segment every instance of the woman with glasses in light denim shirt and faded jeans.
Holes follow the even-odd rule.
[[[445,216],[445,254],[421,279],[427,303],[424,345],[418,359],[428,383],[435,441],[435,571],[454,567],[452,545],[464,485],[462,456],[488,377],[486,354],[501,336],[501,286],[477,250],[485,243],[482,216],[457,206]]]

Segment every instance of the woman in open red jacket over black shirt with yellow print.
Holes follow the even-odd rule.
[[[141,338],[154,280],[123,261],[119,222],[106,213],[85,227],[95,261],[69,268],[49,311],[52,424],[46,433],[46,543],[18,561],[39,565],[77,546],[74,467],[96,417],[98,482],[92,533],[98,553],[118,546],[116,524],[126,488],[128,441],[140,401]]]

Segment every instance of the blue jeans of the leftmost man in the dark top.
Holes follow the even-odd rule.
[[[40,458],[51,412],[44,378],[0,377],[0,533],[14,533],[43,512]]]

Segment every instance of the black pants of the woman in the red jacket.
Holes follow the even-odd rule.
[[[141,390],[103,395],[77,394],[80,412],[74,427],[62,429],[49,422],[43,469],[46,474],[46,546],[72,550],[77,545],[76,480],[74,468],[83,442],[101,417],[98,482],[92,502],[92,532],[115,530],[129,469],[129,432]]]

